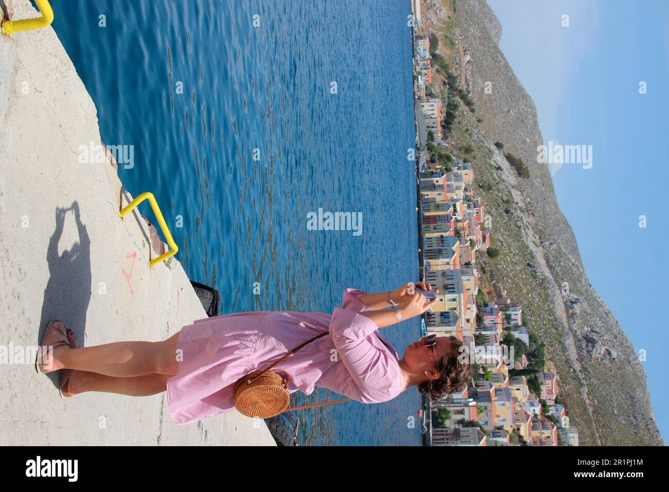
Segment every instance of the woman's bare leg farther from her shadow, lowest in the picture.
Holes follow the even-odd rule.
[[[114,378],[96,372],[72,371],[68,393],[76,395],[90,391],[118,393],[128,396],[149,396],[162,393],[170,374],[145,374],[133,378]]]

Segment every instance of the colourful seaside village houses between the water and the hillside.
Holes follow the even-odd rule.
[[[490,246],[490,234],[482,229],[484,203],[474,191],[471,163],[457,159],[442,135],[442,100],[425,97],[425,84],[432,79],[429,38],[416,37],[414,46],[419,255],[423,280],[439,290],[432,310],[423,315],[422,331],[423,335],[454,335],[481,355],[472,371],[473,386],[438,402],[423,400],[423,442],[432,446],[577,446],[577,429],[569,425],[569,416],[559,404],[557,374],[535,372],[539,384],[529,384],[526,376],[516,374],[528,367],[526,354],[533,350],[522,306],[506,299],[499,286],[494,301],[479,292],[476,257]],[[449,91],[448,97],[456,95]],[[452,160],[445,164],[435,159],[443,153]],[[527,345],[521,357],[510,358],[510,351],[504,352],[518,343],[512,338]]]

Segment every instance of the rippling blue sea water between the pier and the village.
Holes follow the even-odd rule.
[[[347,287],[417,280],[408,0],[52,5],[102,141],[134,145],[124,187],[155,194],[177,258],[221,292],[221,313],[331,313]],[[362,212],[362,234],[307,230],[318,208]],[[383,334],[401,354],[418,320]],[[292,404],[337,397],[316,389]],[[407,425],[419,405],[413,388],[304,410],[300,442],[419,445]]]

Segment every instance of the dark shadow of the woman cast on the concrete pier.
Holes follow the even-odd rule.
[[[69,250],[58,255],[58,243],[63,235],[68,212],[72,212],[79,240]],[[69,238],[68,238],[69,239]],[[78,345],[84,345],[86,312],[91,297],[90,238],[82,224],[79,203],[74,201],[69,208],[56,208],[56,230],[51,236],[46,252],[50,278],[44,289],[41,319],[37,344],[41,341],[47,323],[60,319],[66,327],[76,333]],[[47,341],[45,341],[47,343]],[[52,373],[56,375],[58,372]],[[53,376],[54,384],[56,376]]]

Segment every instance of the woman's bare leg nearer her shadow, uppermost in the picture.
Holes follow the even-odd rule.
[[[94,347],[54,349],[54,370],[74,369],[116,378],[177,374],[177,338],[165,341],[117,341]]]

